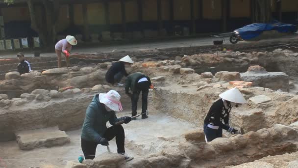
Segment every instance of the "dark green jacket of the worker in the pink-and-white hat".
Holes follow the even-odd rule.
[[[115,123],[120,120],[122,120],[122,118],[117,118],[115,112],[107,112],[105,110],[104,104],[99,102],[99,94],[97,94],[86,110],[81,138],[97,142],[107,129],[107,121],[109,121],[111,125],[115,125]]]

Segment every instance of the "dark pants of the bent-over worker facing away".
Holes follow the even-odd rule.
[[[131,111],[132,116],[137,115],[139,95],[142,92],[142,113],[147,111],[148,108],[148,94],[149,82],[141,82],[136,84],[137,91],[132,92],[131,96]],[[146,115],[146,114],[143,114]]]

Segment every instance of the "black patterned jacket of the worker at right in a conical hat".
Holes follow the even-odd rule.
[[[226,109],[224,107],[223,100],[219,99],[210,107],[210,110],[207,113],[207,116],[205,117],[204,124],[219,126],[225,130],[228,130],[230,128],[228,126],[230,111],[231,108]]]

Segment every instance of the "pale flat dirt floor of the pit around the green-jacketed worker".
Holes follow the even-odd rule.
[[[118,113],[118,117],[124,115],[129,116],[130,113],[127,111]],[[125,151],[134,157],[158,151],[163,138],[178,136],[196,129],[191,123],[158,112],[150,112],[148,119],[142,120],[139,117],[123,126]],[[20,150],[16,141],[0,142],[0,167],[6,165],[6,168],[63,168],[67,161],[77,160],[78,155],[82,154],[80,133],[81,130],[67,132],[71,139],[70,144],[31,151]],[[110,141],[110,149],[111,152],[117,152],[115,140]],[[106,151],[106,147],[99,145],[96,155]]]

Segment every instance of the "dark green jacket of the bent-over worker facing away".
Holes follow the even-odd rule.
[[[125,80],[125,93],[129,93],[129,88],[132,92],[137,91],[136,84],[141,78],[147,78],[149,84],[151,84],[150,78],[141,72],[130,74],[126,77]]]

